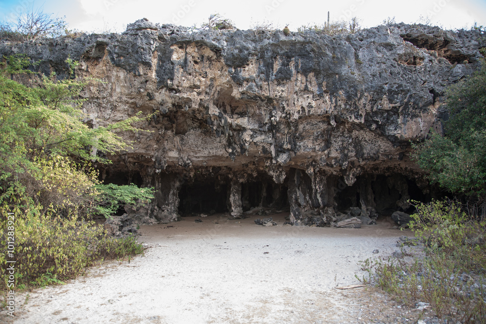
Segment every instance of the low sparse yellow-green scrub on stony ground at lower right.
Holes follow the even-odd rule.
[[[486,223],[455,202],[419,203],[417,211],[410,227],[425,255],[367,259],[361,280],[409,306],[426,302],[439,318],[486,323]]]

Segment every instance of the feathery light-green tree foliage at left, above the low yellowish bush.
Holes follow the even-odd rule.
[[[70,75],[77,63],[66,60]],[[101,186],[92,161],[109,163],[94,152],[115,153],[126,149],[119,132],[141,131],[133,126],[136,116],[108,126],[90,128],[80,109],[86,99],[80,93],[88,82],[74,77],[58,80],[55,74],[33,77],[30,86],[12,80],[30,64],[25,56],[6,58],[0,75],[0,205],[15,204],[25,196],[43,210],[62,214],[109,216],[115,204],[136,204],[153,198],[150,189]],[[10,77],[9,77],[10,76]],[[106,190],[105,190],[106,189]],[[107,202],[121,190],[123,199]],[[105,193],[106,191],[106,193]],[[116,191],[116,190],[115,190]]]

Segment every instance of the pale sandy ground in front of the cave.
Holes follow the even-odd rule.
[[[278,226],[217,215],[141,226],[144,256],[32,291],[27,301],[19,294],[14,323],[417,323],[417,311],[376,289],[336,289],[359,284],[358,261],[390,255],[410,231],[389,222],[283,226],[284,214],[272,216]]]

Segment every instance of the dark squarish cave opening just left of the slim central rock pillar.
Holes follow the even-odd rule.
[[[179,190],[179,213],[181,216],[195,216],[227,212],[227,191],[226,184],[215,181],[183,184]]]

